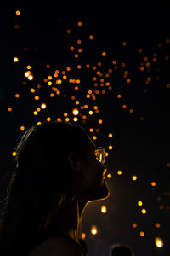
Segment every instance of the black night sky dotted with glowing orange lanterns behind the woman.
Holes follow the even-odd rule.
[[[3,8],[0,27],[0,200],[26,129],[69,118],[109,154],[111,195],[90,203],[82,221],[88,256],[109,255],[119,242],[138,256],[170,255],[169,8],[66,12],[28,4]],[[72,108],[79,110],[77,122]],[[156,237],[163,247],[156,247]]]

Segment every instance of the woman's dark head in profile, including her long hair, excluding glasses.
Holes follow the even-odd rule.
[[[81,126],[65,121],[44,121],[26,130],[14,148],[17,167],[1,226],[8,245],[31,241],[72,201],[86,204],[109,196],[106,166],[96,159],[96,148]]]

